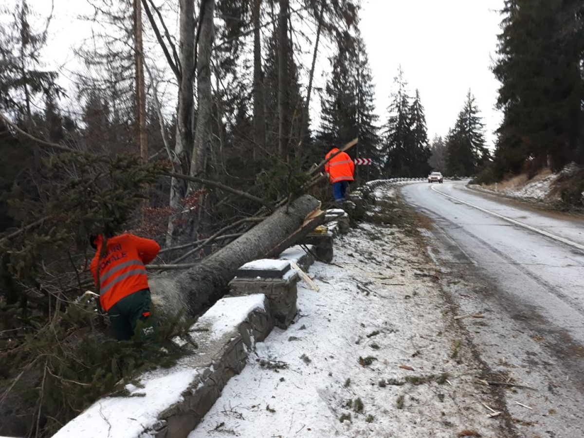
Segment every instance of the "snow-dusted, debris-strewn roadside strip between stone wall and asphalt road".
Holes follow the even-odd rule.
[[[506,436],[415,234],[362,224],[310,274],[189,438]]]

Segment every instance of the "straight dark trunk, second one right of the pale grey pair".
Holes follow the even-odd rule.
[[[288,96],[288,6],[289,0],[280,0],[278,16],[278,155],[284,157],[284,145],[288,144],[286,108]]]

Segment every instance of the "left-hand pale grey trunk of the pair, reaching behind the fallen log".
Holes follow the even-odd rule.
[[[176,114],[175,157],[182,165],[182,171],[188,173],[187,151],[193,145],[193,74],[194,74],[194,0],[180,0],[180,66],[178,110]],[[171,182],[171,197],[169,206],[175,210],[180,208],[180,199],[186,194],[183,180],[176,178]],[[166,245],[172,244],[175,231],[174,217],[168,223]]]

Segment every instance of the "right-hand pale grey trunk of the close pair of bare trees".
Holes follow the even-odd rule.
[[[215,39],[213,22],[215,0],[203,0],[200,13],[199,46],[197,47],[197,126],[194,137],[193,159],[190,164],[190,175],[205,178],[207,159],[211,151],[211,135],[213,127],[213,91],[211,89],[211,49]],[[190,190],[196,190],[191,185]]]

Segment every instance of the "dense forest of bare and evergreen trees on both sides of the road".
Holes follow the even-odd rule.
[[[159,265],[200,260],[308,187],[329,200],[307,171],[353,138],[350,155],[373,160],[359,183],[432,170],[497,180],[584,160],[575,0],[506,1],[494,152],[471,91],[429,141],[401,69],[378,116],[357,1],[92,0],[86,20],[99,26],[76,72],[44,68],[51,17],[17,4],[0,27],[0,433],[46,436],[165,360],[105,335],[83,295],[89,232],[157,239]],[[332,70],[319,87],[317,62]],[[181,329],[173,321],[161,342]]]

